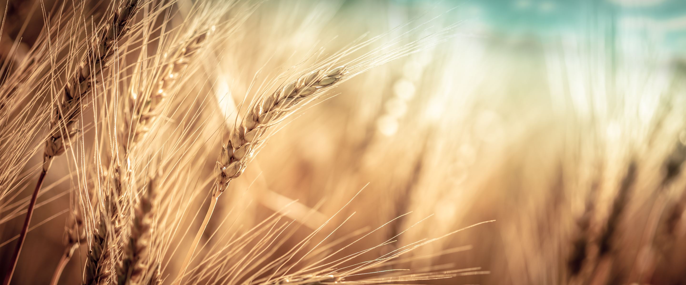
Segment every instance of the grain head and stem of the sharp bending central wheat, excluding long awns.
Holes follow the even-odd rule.
[[[182,283],[183,275],[212,217],[217,199],[231,180],[243,174],[255,152],[268,137],[268,129],[318,98],[316,94],[336,85],[348,73],[346,68],[347,66],[339,66],[329,71],[314,70],[280,87],[273,94],[261,96],[252,104],[243,120],[233,128],[228,144],[222,146],[222,154],[217,160],[217,182],[212,190],[210,206],[178,273],[178,284]]]

